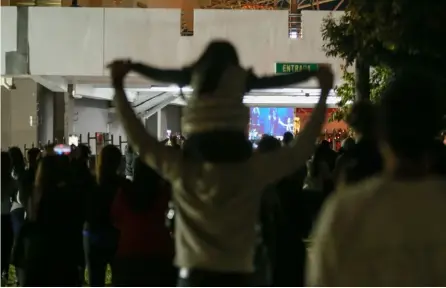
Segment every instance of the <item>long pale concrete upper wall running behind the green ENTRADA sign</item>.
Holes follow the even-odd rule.
[[[2,16],[8,15],[2,17],[2,27],[15,30],[14,9],[1,7]],[[275,62],[329,62],[340,77],[342,61],[329,59],[322,51],[321,23],[330,12],[304,11],[303,39],[289,38],[288,11],[195,10],[191,37],[180,35],[180,13],[180,9],[30,8],[31,74],[104,76],[105,65],[123,57],[178,67],[195,60],[210,40],[223,38],[237,47],[242,64],[259,74],[273,73]],[[14,37],[13,32],[5,40],[2,37],[3,59],[5,51],[15,48]]]

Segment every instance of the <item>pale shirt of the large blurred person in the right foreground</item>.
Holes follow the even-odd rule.
[[[336,192],[309,253],[309,286],[446,286],[446,180],[373,178]]]

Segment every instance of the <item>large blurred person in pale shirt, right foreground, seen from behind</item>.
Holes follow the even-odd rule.
[[[444,85],[436,80],[425,69],[397,71],[381,96],[382,176],[350,184],[327,203],[309,251],[308,285],[446,285],[446,180],[433,173],[430,157],[444,115]],[[417,121],[407,125],[407,115]]]

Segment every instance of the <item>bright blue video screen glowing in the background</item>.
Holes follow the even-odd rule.
[[[280,137],[294,131],[294,108],[251,107],[249,139],[257,140],[263,134]]]

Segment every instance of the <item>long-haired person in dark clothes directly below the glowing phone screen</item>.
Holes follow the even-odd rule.
[[[48,155],[40,162],[24,227],[24,286],[78,286],[82,237],[78,195],[67,156]]]

